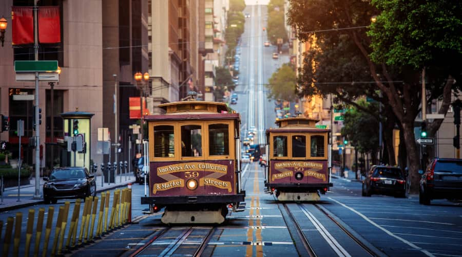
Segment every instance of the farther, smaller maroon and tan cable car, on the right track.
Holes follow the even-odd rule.
[[[332,187],[330,130],[317,128],[318,120],[286,118],[266,130],[266,192],[281,201],[320,200]]]

